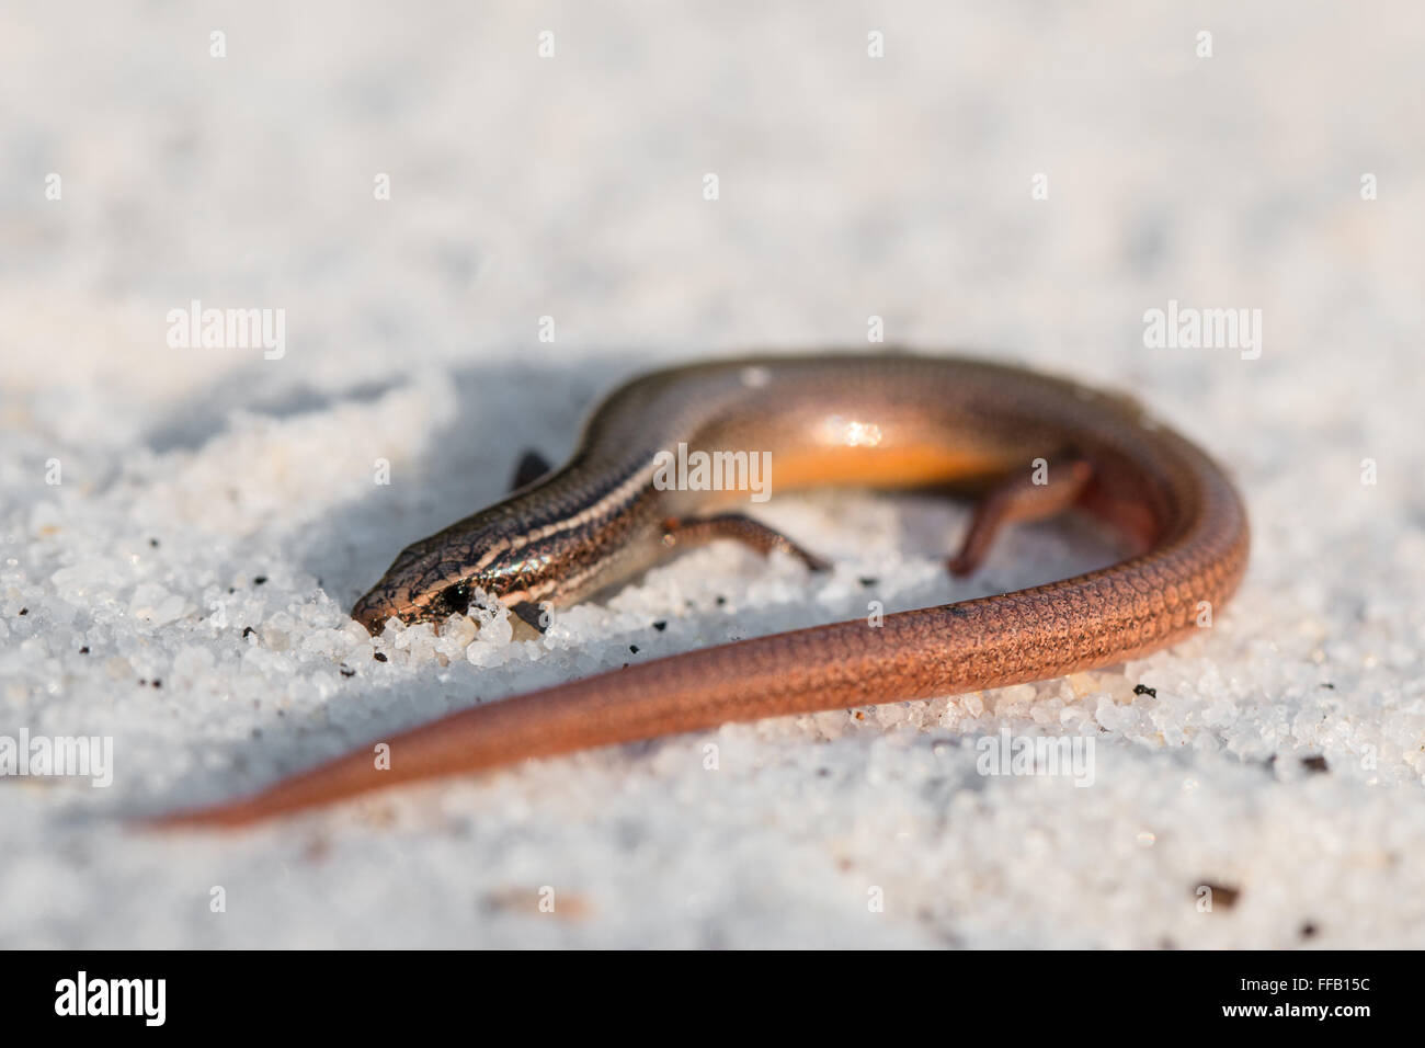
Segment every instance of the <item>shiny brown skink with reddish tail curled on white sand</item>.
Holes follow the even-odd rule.
[[[1233,483],[1129,398],[973,359],[751,356],[628,382],[594,411],[561,469],[405,549],[353,617],[373,633],[392,617],[443,622],[483,592],[536,623],[540,609],[718,538],[822,566],[732,512],[747,490],[670,486],[680,443],[688,453],[768,452],[775,492],[826,483],[973,492],[969,530],[949,562],[956,573],[973,570],[1006,523],[1070,508],[1114,528],[1131,552],[1033,589],[720,644],[486,703],[382,740],[388,767],[369,746],[158,821],[239,826],[527,757],[1121,663],[1210,622],[1247,563],[1247,515]]]

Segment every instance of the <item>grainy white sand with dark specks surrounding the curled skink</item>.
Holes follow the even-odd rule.
[[[107,788],[0,783],[0,945],[1425,945],[1418,6],[465,7],[0,13],[0,734],[114,740]],[[284,308],[285,356],[170,348],[195,298]],[[1168,299],[1261,309],[1260,359],[1144,348]],[[370,659],[352,599],[523,448],[567,452],[601,389],[865,344],[872,314],[1133,391],[1227,462],[1254,550],[1214,629],[247,836],[125,827],[476,700],[862,615],[861,575],[896,609],[1112,556],[1029,528],[953,583],[958,508],[774,499],[831,579],[717,546],[543,646],[422,627]],[[1093,739],[1093,786],[978,774],[1005,727]],[[1240,894],[1204,913],[1203,884]]]

